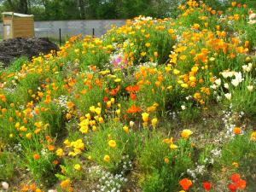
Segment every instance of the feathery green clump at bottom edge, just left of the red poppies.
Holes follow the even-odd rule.
[[[189,140],[179,139],[175,144],[176,149],[170,148],[155,131],[154,137],[145,140],[138,159],[145,174],[143,191],[175,191],[181,173],[194,166]]]

